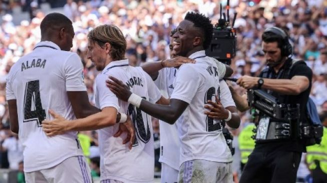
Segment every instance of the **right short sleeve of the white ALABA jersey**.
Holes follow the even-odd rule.
[[[71,54],[64,64],[67,91],[86,91],[83,64],[77,54]]]

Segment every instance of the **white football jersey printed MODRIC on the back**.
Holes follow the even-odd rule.
[[[115,179],[122,182],[153,182],[154,145],[151,116],[128,102],[118,100],[106,86],[108,76],[114,76],[130,87],[130,90],[157,102],[161,93],[151,77],[141,67],[128,65],[128,60],[110,62],[96,78],[96,106],[112,106],[119,112],[128,113],[134,122],[136,139],[131,150],[123,144],[126,134],[114,137],[119,124],[98,130],[100,146],[101,180]]]

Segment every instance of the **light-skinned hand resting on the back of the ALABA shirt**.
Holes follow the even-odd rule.
[[[63,134],[68,131],[67,127],[70,123],[68,120],[51,109],[49,109],[49,113],[54,116],[55,119],[42,121],[42,128],[47,136]]]

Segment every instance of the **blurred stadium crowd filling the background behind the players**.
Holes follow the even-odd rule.
[[[219,0],[67,0],[63,13],[73,21],[74,46],[84,64],[84,83],[89,99],[94,102],[94,79],[98,73],[87,59],[87,33],[100,24],[115,24],[127,40],[126,57],[131,65],[169,57],[169,33],[189,11],[199,11],[213,23],[219,18]],[[223,6],[226,0],[221,1]],[[327,1],[326,0],[230,0],[230,14],[237,12],[234,28],[237,32],[237,52],[231,60],[233,77],[256,76],[265,63],[261,51],[261,34],[266,27],[275,25],[288,30],[293,46],[293,58],[303,59],[313,70],[311,97],[321,116],[327,113]],[[35,17],[13,23],[13,16],[2,5],[0,27],[0,167],[19,169],[23,159],[17,135],[9,129],[9,112],[6,105],[6,76],[11,66],[24,54],[31,52],[40,41],[40,23],[45,16],[41,10]],[[244,88],[231,83],[237,92]],[[237,136],[242,123],[250,120],[249,113],[241,114],[241,127],[232,130]],[[159,122],[153,119],[155,148],[159,152]],[[91,160],[94,175],[99,171],[97,133],[79,134],[84,153]],[[7,160],[8,159],[8,162]],[[156,163],[159,171],[160,163]]]

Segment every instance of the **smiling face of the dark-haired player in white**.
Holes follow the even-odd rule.
[[[177,32],[173,35],[173,49],[176,55],[188,57],[195,46],[199,44],[199,33],[193,27],[193,22],[183,20],[177,26]]]

